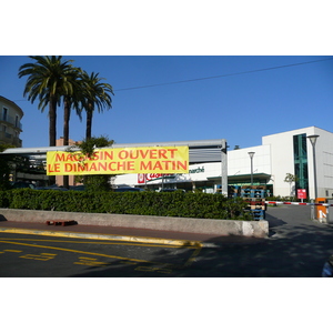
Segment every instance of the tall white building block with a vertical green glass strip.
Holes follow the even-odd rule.
[[[319,135],[314,145],[315,160],[307,139],[310,135]],[[333,133],[309,127],[263,137],[262,144],[271,149],[271,183],[275,193],[290,195],[290,186],[284,179],[286,173],[291,173],[297,178],[294,192],[305,189],[307,196],[314,199],[316,180],[317,196],[333,196]]]

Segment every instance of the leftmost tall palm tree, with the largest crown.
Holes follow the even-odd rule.
[[[19,78],[29,75],[23,97],[33,101],[39,98],[42,112],[49,105],[49,140],[50,147],[56,145],[57,140],[57,105],[60,105],[61,95],[72,92],[72,82],[68,75],[73,72],[70,61],[63,61],[61,56],[29,57],[34,63],[26,63],[19,69]]]

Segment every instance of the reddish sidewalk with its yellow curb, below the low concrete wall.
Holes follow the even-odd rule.
[[[188,232],[158,231],[135,228],[115,228],[100,225],[47,225],[36,222],[0,221],[1,233],[33,234],[43,236],[64,236],[90,240],[109,240],[168,244],[179,246],[220,248],[224,243],[258,243],[264,239],[245,236],[216,236]]]

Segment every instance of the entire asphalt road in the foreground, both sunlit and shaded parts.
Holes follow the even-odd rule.
[[[220,248],[0,234],[0,276],[320,278],[333,228],[310,206],[270,208],[270,238]]]

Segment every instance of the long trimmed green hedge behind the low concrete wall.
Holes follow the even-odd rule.
[[[0,206],[9,209],[253,220],[240,198],[179,192],[88,192],[54,190],[0,191]]]

